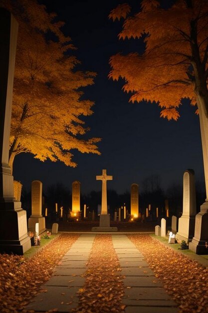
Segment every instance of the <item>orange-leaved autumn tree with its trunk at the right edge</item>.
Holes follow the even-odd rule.
[[[156,101],[169,120],[179,118],[184,98],[197,106],[208,201],[208,1],[176,0],[170,7],[161,2],[142,0],[134,14],[127,3],[111,11],[113,20],[124,18],[119,38],[144,39],[145,50],[112,56],[109,76],[125,79],[131,101]]]

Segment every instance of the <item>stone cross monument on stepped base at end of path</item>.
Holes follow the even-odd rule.
[[[107,180],[112,180],[113,176],[106,173],[106,169],[102,170],[102,175],[96,176],[96,180],[102,180],[102,202],[99,227],[92,227],[92,231],[117,231],[117,227],[110,227],[110,214],[108,214],[107,206]]]

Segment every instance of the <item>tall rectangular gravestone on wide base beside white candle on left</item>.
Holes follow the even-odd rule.
[[[42,182],[32,181],[31,192],[32,214],[28,220],[28,229],[35,230],[35,224],[39,224],[39,234],[45,231],[45,217],[42,216]]]

